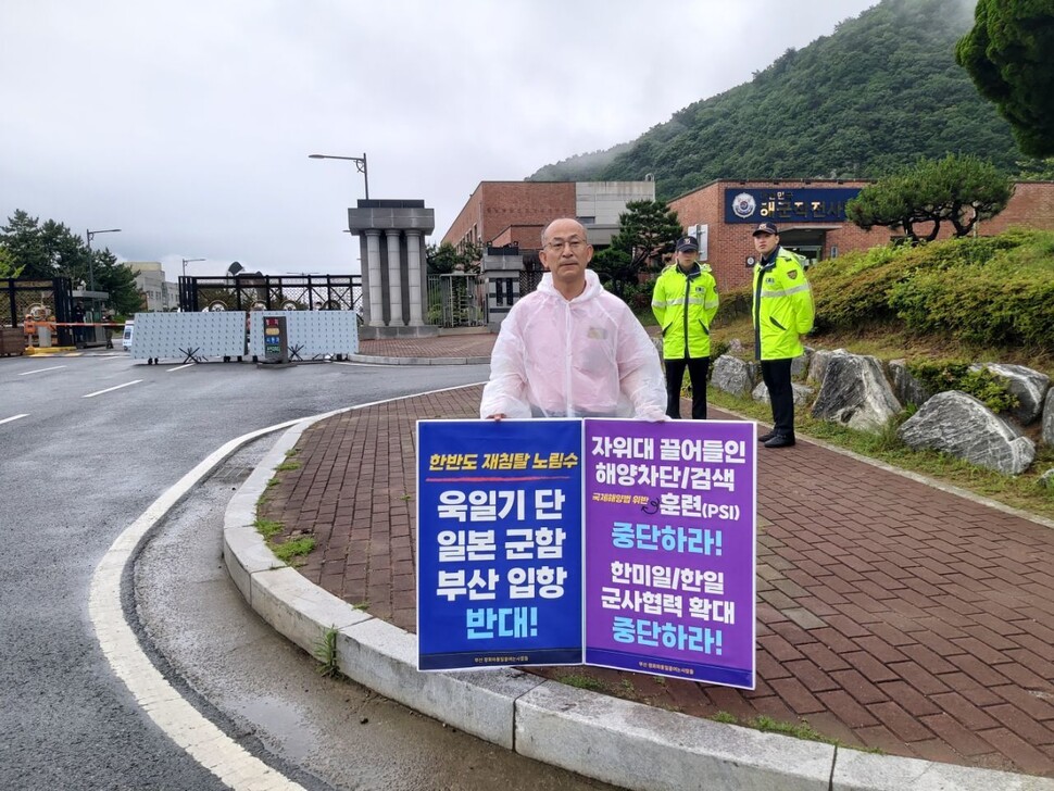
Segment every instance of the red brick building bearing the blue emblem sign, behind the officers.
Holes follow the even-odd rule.
[[[889,228],[857,228],[845,219],[845,202],[867,181],[740,181],[718,179],[669,202],[689,233],[700,239],[700,258],[710,262],[723,291],[746,286],[751,272],[748,258],[754,255],[751,231],[758,223],[775,222],[780,243],[812,261],[837,258],[850,250],[867,250],[887,243]],[[1012,225],[1054,230],[1054,183],[1024,181],[1016,185],[1006,209],[992,219],[978,223],[977,233],[999,234]],[[918,226],[921,234],[925,226]],[[945,224],[941,238],[952,235]]]

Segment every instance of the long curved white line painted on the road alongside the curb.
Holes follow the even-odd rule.
[[[479,384],[479,382],[477,382]],[[110,544],[91,575],[88,591],[88,617],[95,629],[99,646],[114,674],[128,688],[139,706],[168,738],[186,751],[201,766],[227,783],[235,791],[304,791],[289,778],[272,769],[253,756],[234,739],[224,733],[202,714],[179,696],[150,658],[142,652],[136,633],[125,620],[121,604],[121,578],[125,566],[131,563],[136,550],[150,529],[201,482],[221,462],[247,442],[273,431],[303,423],[312,425],[326,417],[367,406],[403,401],[447,390],[457,390],[473,385],[416,392],[393,399],[372,401],[342,410],[325,412],[296,420],[286,420],[237,437],[213,451],[198,466],[183,476],[175,486],[153,501],[142,515],[125,528]]]

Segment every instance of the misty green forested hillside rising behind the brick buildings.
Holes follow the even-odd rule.
[[[669,199],[715,178],[875,178],[919,156],[974,153],[1019,171],[1009,126],[955,63],[963,0],[882,0],[748,84],[636,141],[547,165],[530,180],[637,180]]]

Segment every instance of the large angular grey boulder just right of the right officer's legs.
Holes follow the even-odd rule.
[[[900,402],[877,357],[831,354],[813,417],[843,423],[861,431],[877,431],[901,411]]]

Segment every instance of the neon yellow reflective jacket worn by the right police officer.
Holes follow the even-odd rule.
[[[813,291],[802,260],[777,248],[767,265],[754,265],[754,354],[783,360],[803,354],[801,336],[813,328]]]

